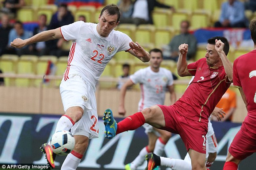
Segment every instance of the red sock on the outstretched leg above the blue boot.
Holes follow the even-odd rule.
[[[145,118],[141,112],[137,112],[131,116],[126,117],[118,123],[116,134],[124,131],[135,130],[145,123]]]

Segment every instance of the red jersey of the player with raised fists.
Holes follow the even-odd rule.
[[[208,117],[231,82],[223,66],[212,68],[206,63],[206,58],[189,64],[187,69],[195,78],[173,106],[189,119],[208,123]]]

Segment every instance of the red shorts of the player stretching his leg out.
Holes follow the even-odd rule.
[[[199,153],[206,154],[206,133],[208,124],[188,119],[180,115],[172,106],[159,106],[165,119],[165,127],[161,129],[179,134],[187,151],[193,149]]]

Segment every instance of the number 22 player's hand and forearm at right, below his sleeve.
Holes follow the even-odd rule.
[[[130,42],[129,43],[131,49],[128,51],[130,54],[134,55],[138,59],[140,59],[143,62],[148,62],[150,60],[150,55],[141,45],[136,42]]]

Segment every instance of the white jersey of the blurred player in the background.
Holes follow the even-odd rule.
[[[130,76],[130,80],[141,87],[141,100],[138,103],[138,111],[156,104],[164,104],[165,92],[168,86],[173,85],[172,73],[160,68],[159,72],[153,72],[149,67],[138,70]]]

